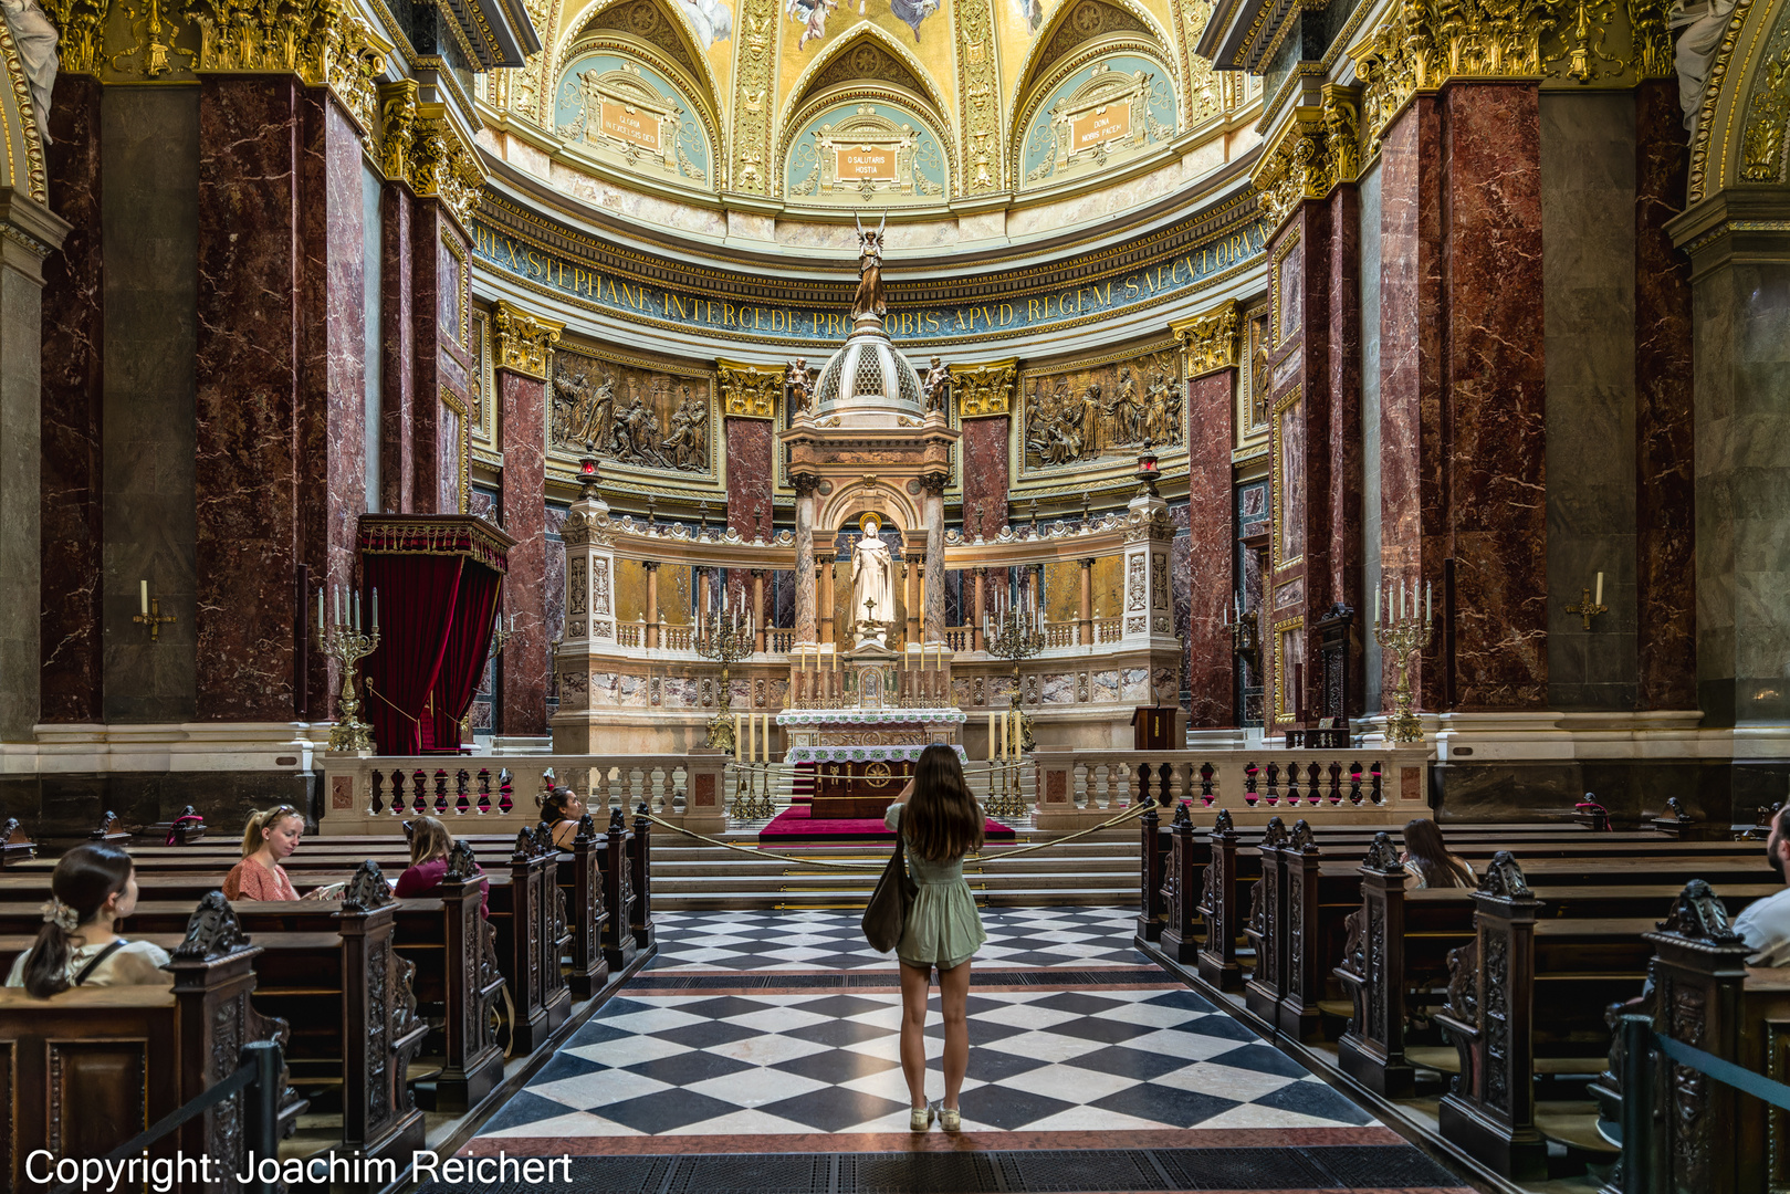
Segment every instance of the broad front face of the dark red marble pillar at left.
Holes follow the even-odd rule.
[[[303,109],[290,77],[199,90],[197,716],[294,718]]]

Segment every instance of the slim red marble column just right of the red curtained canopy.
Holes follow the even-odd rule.
[[[546,383],[498,371],[503,406],[503,530],[516,539],[503,585],[503,614],[516,635],[498,657],[503,705],[498,732],[548,732],[548,537]]]

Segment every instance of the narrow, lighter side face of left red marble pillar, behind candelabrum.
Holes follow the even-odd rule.
[[[303,98],[299,542],[310,589],[340,584],[347,591],[354,584],[360,514],[367,508],[362,147],[360,132],[326,90],[308,90]],[[322,720],[333,712],[338,669],[320,650],[308,650],[306,659],[301,712]]]

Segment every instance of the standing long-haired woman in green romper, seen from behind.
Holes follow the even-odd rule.
[[[945,1103],[938,1121],[959,1131],[958,1092],[970,1065],[970,1026],[963,1006],[970,994],[970,954],[988,934],[976,897],[963,881],[963,856],[983,849],[983,811],[963,782],[963,766],[950,746],[920,752],[913,780],[882,816],[908,847],[908,875],[918,886],[902,924],[900,943],[900,1069],[913,1099],[909,1126],[925,1131],[933,1106],[925,1101],[925,1001],[938,967],[938,1001],[945,1013]]]

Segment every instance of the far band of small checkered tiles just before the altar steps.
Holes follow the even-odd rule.
[[[857,913],[653,913],[653,970],[895,970],[865,942]],[[1137,911],[1124,908],[988,908],[977,967],[1137,967]]]

